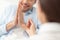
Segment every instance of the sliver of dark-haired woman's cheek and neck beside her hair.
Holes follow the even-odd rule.
[[[46,23],[47,22],[46,15],[41,10],[41,6],[40,6],[39,2],[37,2],[37,16],[38,16],[38,20],[41,21],[41,23]]]

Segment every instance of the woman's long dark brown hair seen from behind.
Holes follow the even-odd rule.
[[[60,0],[39,0],[39,2],[48,21],[60,23]]]

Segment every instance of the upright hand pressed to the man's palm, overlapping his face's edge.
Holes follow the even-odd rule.
[[[18,14],[18,25],[22,28],[24,28],[24,15],[23,15],[23,12],[22,12],[22,5],[21,5],[21,2],[19,2],[18,4],[18,9],[17,9],[17,14]]]

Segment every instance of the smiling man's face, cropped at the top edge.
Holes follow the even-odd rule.
[[[30,10],[33,7],[35,2],[36,2],[36,0],[20,0],[20,4],[23,8],[22,9],[23,12]]]

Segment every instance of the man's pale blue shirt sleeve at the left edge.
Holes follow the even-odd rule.
[[[6,24],[13,20],[15,7],[6,7],[3,13],[0,15],[0,36],[8,33],[6,30]]]

